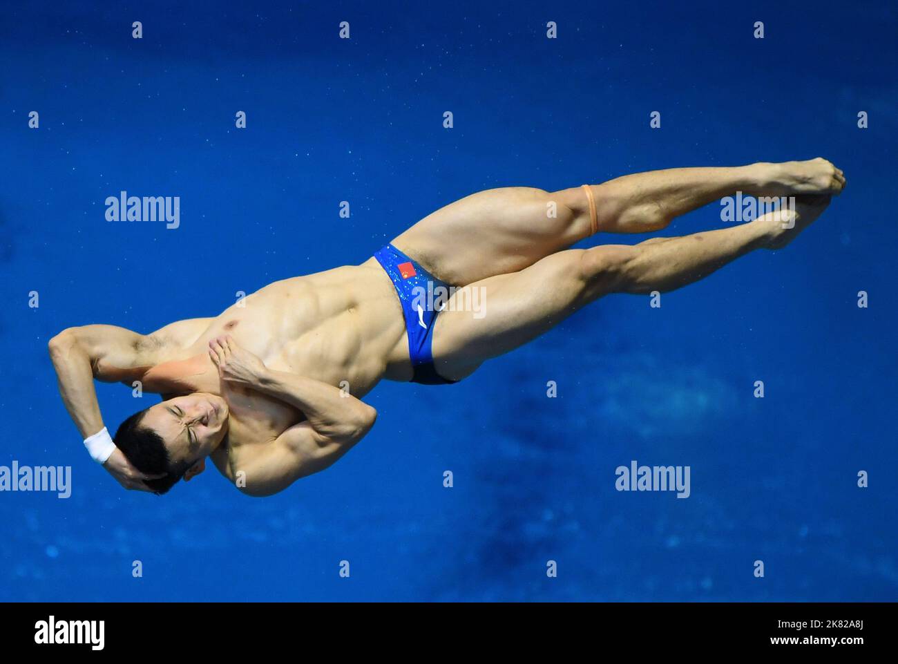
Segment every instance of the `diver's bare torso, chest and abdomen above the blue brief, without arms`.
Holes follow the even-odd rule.
[[[178,359],[145,375],[148,390],[223,396],[231,413],[229,453],[270,442],[303,421],[304,414],[266,394],[223,385],[208,356],[208,342],[223,334],[272,370],[314,378],[357,398],[383,377],[411,376],[401,305],[392,281],[374,259],[276,281],[226,309]],[[225,472],[224,450],[213,458]]]

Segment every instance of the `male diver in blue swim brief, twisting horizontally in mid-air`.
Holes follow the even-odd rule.
[[[49,353],[91,456],[126,488],[164,493],[211,456],[240,491],[270,495],[365,436],[375,412],[361,398],[382,378],[456,383],[600,297],[666,292],[747,252],[784,247],[844,186],[818,157],[480,191],[361,265],[276,281],[222,314],[150,334],[71,327]],[[738,191],[796,204],[694,235],[568,249],[600,231],[661,230]],[[421,297],[437,291],[446,297]],[[163,402],[129,417],[113,439],[93,379],[139,380]]]

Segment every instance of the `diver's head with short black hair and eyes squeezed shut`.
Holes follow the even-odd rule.
[[[176,396],[136,412],[115,434],[116,447],[137,470],[165,474],[145,480],[162,494],[183,477],[190,480],[206,468],[205,459],[227,433],[228,407],[216,394]]]

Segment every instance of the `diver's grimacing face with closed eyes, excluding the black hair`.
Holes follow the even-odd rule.
[[[157,403],[142,426],[162,436],[174,463],[193,463],[208,456],[225,438],[228,407],[216,394],[197,392]]]

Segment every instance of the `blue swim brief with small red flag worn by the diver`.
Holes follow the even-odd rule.
[[[436,279],[430,272],[420,266],[394,247],[387,244],[374,254],[383,270],[390,275],[396,295],[402,305],[405,316],[405,329],[409,336],[409,358],[414,371],[411,382],[424,385],[447,385],[458,381],[449,380],[436,373],[434,367],[433,344],[434,323],[436,314],[433,306],[427,306],[427,293],[433,293],[437,287],[449,288],[445,281]],[[429,282],[429,283],[428,283]],[[428,289],[429,285],[429,289]],[[422,305],[423,304],[423,305]]]

